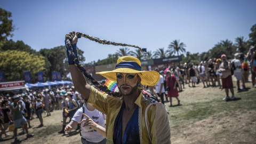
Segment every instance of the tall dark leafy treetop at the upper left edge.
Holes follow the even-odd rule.
[[[14,27],[12,26],[12,13],[0,7],[0,42],[6,40],[8,36],[12,36]]]

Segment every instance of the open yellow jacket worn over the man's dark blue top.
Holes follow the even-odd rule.
[[[106,143],[113,143],[114,123],[116,116],[118,115],[119,110],[121,109],[123,97],[112,97],[110,95],[103,94],[92,87],[90,97],[87,102],[91,103],[93,107],[101,111],[103,114],[107,115]],[[151,143],[145,124],[145,111],[147,106],[152,102],[145,99],[142,93],[140,93],[139,97],[134,103],[136,103],[139,106],[138,121],[140,143]],[[166,108],[162,103],[155,103],[154,105],[148,108],[147,122],[149,126],[150,138],[152,140],[152,143],[171,143],[169,119],[167,116]]]

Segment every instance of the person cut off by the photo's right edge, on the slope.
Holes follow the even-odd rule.
[[[252,73],[252,87],[256,87],[255,85],[255,70],[253,69],[253,54],[255,53],[255,47],[253,45],[250,46],[249,51],[246,54],[246,59],[249,61],[250,70]]]

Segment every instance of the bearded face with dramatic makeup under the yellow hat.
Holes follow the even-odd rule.
[[[131,95],[138,91],[140,78],[137,74],[117,73],[117,86],[123,96]]]

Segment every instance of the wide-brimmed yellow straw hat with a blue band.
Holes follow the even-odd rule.
[[[116,82],[116,73],[138,74],[141,78],[142,85],[156,85],[160,79],[157,71],[141,71],[140,60],[132,56],[120,57],[117,60],[116,68],[112,71],[102,71],[100,74],[103,77]]]

